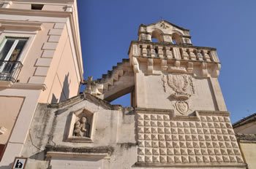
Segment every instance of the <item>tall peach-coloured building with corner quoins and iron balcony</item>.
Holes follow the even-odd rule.
[[[76,1],[0,1],[0,166],[22,156],[38,103],[78,95]],[[0,167],[0,168],[2,168]]]

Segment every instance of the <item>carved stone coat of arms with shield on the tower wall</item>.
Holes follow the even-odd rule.
[[[189,111],[188,100],[195,93],[192,76],[189,74],[163,74],[162,82],[165,93],[170,92],[170,98],[176,101],[174,105],[176,110],[181,114],[187,114]]]

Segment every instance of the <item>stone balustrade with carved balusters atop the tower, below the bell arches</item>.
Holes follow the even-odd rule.
[[[164,58],[176,60],[195,60],[219,63],[216,49],[169,43],[132,41],[129,54],[143,58]]]

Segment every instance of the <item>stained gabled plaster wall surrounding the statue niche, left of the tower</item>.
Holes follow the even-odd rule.
[[[87,109],[96,114],[92,143],[67,141],[70,115],[80,109]],[[29,157],[27,168],[47,168],[48,165],[52,168],[120,168],[122,165],[129,168],[137,160],[135,114],[132,109],[106,109],[104,106],[83,100],[61,109],[50,109],[46,104],[39,104],[29,134],[31,136],[27,138],[22,152],[24,157]],[[48,156],[43,161],[46,145],[57,147],[56,149],[67,149],[67,152],[57,157]],[[111,157],[67,155],[71,153],[70,149],[84,148],[110,149]]]

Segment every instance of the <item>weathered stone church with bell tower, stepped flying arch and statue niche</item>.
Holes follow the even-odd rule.
[[[37,106],[27,168],[246,168],[219,69],[216,49],[193,46],[189,30],[140,25],[129,59],[80,95]],[[108,103],[127,93],[132,107]]]

